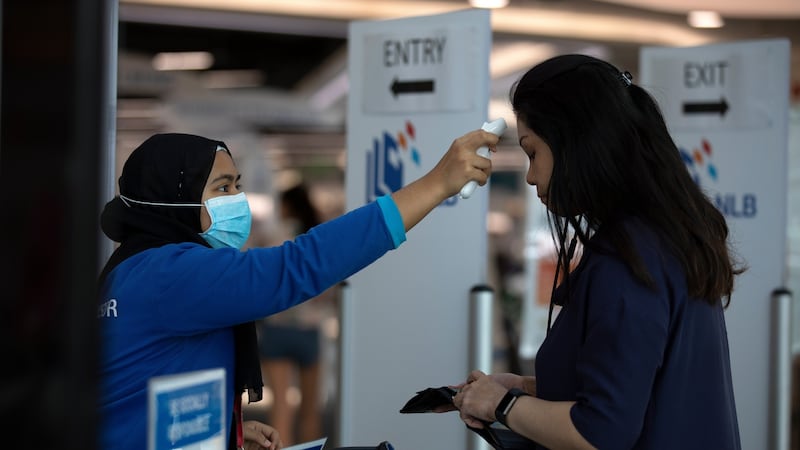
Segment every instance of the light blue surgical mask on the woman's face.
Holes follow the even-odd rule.
[[[205,201],[211,226],[200,236],[214,248],[242,248],[250,236],[250,205],[244,192]]]

